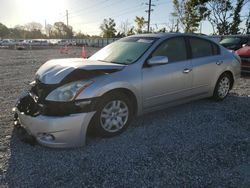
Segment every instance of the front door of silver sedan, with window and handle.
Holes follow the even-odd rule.
[[[190,95],[192,65],[191,60],[187,58],[185,39],[183,37],[167,39],[150,57],[154,56],[166,56],[169,62],[164,65],[143,67],[143,106],[155,107]]]

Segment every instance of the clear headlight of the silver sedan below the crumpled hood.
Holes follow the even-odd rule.
[[[56,88],[46,97],[46,100],[58,102],[72,101],[92,83],[93,81],[91,80],[71,82],[69,84]]]

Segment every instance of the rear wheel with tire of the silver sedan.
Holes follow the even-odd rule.
[[[222,101],[225,99],[230,91],[231,85],[231,76],[227,73],[222,74],[216,83],[213,99],[215,101]]]

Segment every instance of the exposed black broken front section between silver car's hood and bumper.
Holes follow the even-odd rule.
[[[32,117],[38,115],[66,116],[70,114],[95,111],[95,104],[98,98],[68,102],[46,100],[48,94],[57,87],[59,87],[59,85],[46,85],[36,81],[35,84],[32,84],[30,91],[17,101],[16,108],[25,115]]]

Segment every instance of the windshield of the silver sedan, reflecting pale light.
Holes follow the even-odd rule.
[[[129,37],[113,42],[89,59],[117,64],[131,64],[139,59],[157,38]]]

